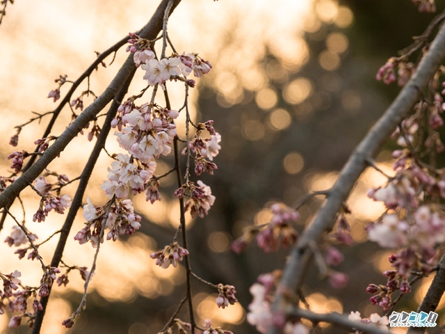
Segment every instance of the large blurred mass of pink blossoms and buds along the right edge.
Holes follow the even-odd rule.
[[[434,1],[428,0],[414,3],[419,5],[419,10],[434,6]],[[401,63],[398,66],[400,72]],[[385,68],[389,71],[388,66]],[[414,72],[409,63],[405,63],[403,69],[407,76]],[[382,70],[379,73],[381,77],[388,72]],[[444,87],[442,84],[441,88],[439,78],[444,74],[445,68],[439,67],[430,81],[430,102],[423,99],[417,103],[412,115],[405,118],[392,134],[402,147],[392,153],[395,175],[388,177],[384,186],[368,193],[370,198],[383,202],[387,208],[378,221],[367,228],[369,239],[382,247],[398,249],[389,257],[392,269],[383,273],[387,276],[386,285],[371,284],[366,289],[373,294],[371,303],[383,310],[393,305],[391,295],[394,292],[406,294],[411,291],[408,278],[413,270],[419,276],[426,276],[431,271],[437,262],[437,248],[445,241],[445,213],[441,205],[445,199],[444,169],[428,165],[421,159],[424,154],[435,155],[445,150],[438,131],[444,125],[442,95],[445,90],[439,92]]]

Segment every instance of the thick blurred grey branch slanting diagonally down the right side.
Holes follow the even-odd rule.
[[[355,182],[363,173],[367,160],[380,151],[391,132],[412,110],[421,97],[423,90],[439,68],[445,57],[445,26],[437,33],[435,40],[412,79],[398,94],[389,109],[371,128],[361,143],[355,148],[350,159],[341,170],[337,182],[330,190],[325,205],[320,209],[312,225],[300,237],[291,250],[289,262],[284,269],[280,287],[273,303],[273,312],[286,312],[286,294],[297,291],[302,285],[305,268],[312,255],[310,242],[318,241],[327,230],[331,230],[341,205],[348,198]],[[278,329],[271,326],[268,333],[277,333]]]

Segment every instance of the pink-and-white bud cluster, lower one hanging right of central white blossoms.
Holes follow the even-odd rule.
[[[193,218],[195,216],[204,218],[215,202],[215,196],[211,194],[210,187],[202,181],[197,181],[197,184],[188,181],[181,188],[176,189],[175,196],[177,198],[183,198],[184,195],[190,197],[184,204],[184,209],[186,211],[190,209],[190,214]]]

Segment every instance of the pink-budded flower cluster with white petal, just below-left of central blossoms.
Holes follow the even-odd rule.
[[[134,213],[133,202],[131,200],[120,200],[112,198],[105,205],[95,206],[87,199],[87,204],[83,206],[83,218],[86,220],[86,226],[75,235],[74,239],[79,244],[85,244],[90,241],[93,247],[96,247],[100,239],[102,228],[108,230],[106,239],[118,239],[118,235],[133,234],[140,228],[138,214]],[[103,226],[103,224],[105,224]]]

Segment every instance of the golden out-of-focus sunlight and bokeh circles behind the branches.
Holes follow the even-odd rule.
[[[7,15],[0,26],[0,91],[3,92],[0,97],[3,118],[0,131],[4,134],[3,144],[0,145],[3,157],[0,167],[3,175],[10,173],[8,161],[4,157],[13,151],[7,145],[10,136],[15,133],[13,126],[26,122],[32,116],[32,111],[44,113],[56,106],[51,99],[47,99],[49,90],[56,88],[54,79],[60,74],[67,74],[68,79],[75,80],[95,59],[94,51],[103,51],[129,31],[140,29],[157,5],[158,1],[142,0],[115,0],[112,6],[110,1],[105,0],[20,0],[8,6]],[[353,117],[360,112],[363,106],[362,93],[354,86],[348,86],[346,78],[339,74],[351,44],[348,29],[353,28],[354,22],[353,11],[334,0],[275,0],[273,6],[270,0],[193,0],[179,4],[169,22],[170,38],[178,51],[199,52],[202,58],[211,61],[213,71],[203,80],[215,95],[218,107],[229,111],[234,106],[254,104],[256,108],[255,112],[251,112],[246,107],[239,121],[227,120],[229,131],[228,136],[223,137],[222,146],[223,151],[227,150],[231,157],[226,157],[226,161],[235,161],[237,152],[241,150],[239,141],[232,134],[238,132],[243,141],[253,145],[270,143],[279,138],[277,136],[289,132],[296,122],[316,117],[317,110],[328,110],[333,103],[330,94],[339,95],[343,113]],[[333,28],[327,31],[323,26]],[[322,45],[318,51],[311,49],[308,35],[312,42]],[[102,92],[126,57],[122,49],[116,54],[112,65],[108,65],[111,58],[107,58],[107,68],[100,67],[92,74],[90,84],[95,93]],[[264,63],[268,57],[269,61]],[[317,80],[302,71],[311,59],[323,71]],[[142,77],[139,70],[130,93],[136,94],[144,87]],[[86,89],[86,84],[79,88],[78,93],[83,89]],[[169,89],[173,105],[179,108],[184,94],[181,85],[172,84]],[[63,86],[62,94],[66,91],[67,87]],[[191,112],[194,118],[199,114],[198,101],[203,96],[206,97],[205,91],[191,91]],[[262,118],[257,117],[260,113]],[[54,134],[60,134],[69,120],[70,112],[66,111],[58,120]],[[20,134],[20,150],[33,150],[33,141],[39,138],[45,121],[47,118],[44,118],[42,125],[32,124],[24,128]],[[179,129],[178,132],[184,134],[184,130]],[[75,177],[88,159],[86,148],[91,147],[92,144],[85,136],[79,136],[61,154],[61,159],[56,159],[49,168],[63,170],[63,173]],[[118,144],[113,141],[107,144],[107,150],[120,152]],[[334,184],[337,170],[311,167],[313,161],[308,159],[312,157],[299,148],[292,148],[275,161],[276,170],[280,173],[302,180],[298,186],[286,184],[286,188],[282,189],[284,202],[291,204],[307,191],[329,189]],[[391,164],[388,161],[389,151],[385,151],[378,157],[377,164],[390,175]],[[110,159],[103,154],[93,173],[87,195],[95,203],[105,200],[100,185],[106,177],[108,164]],[[160,161],[158,164],[159,173],[169,168],[168,161]],[[353,212],[350,221],[354,222],[351,233],[357,243],[366,240],[364,227],[384,210],[380,203],[367,198],[366,192],[383,183],[385,177],[369,168],[348,200]],[[172,177],[163,179],[163,186],[174,184]],[[74,185],[66,189],[68,193],[74,193],[74,190]],[[171,194],[162,193],[162,196],[165,200],[154,205],[147,205],[143,196],[136,196],[133,202],[136,211],[148,221],[170,231],[177,227],[179,210],[177,202],[169,200]],[[30,222],[27,226],[38,234],[39,240],[46,239],[57,230],[63,221],[62,216],[51,213],[44,223],[32,223],[33,208],[38,205],[33,192],[24,191],[22,200],[26,207],[26,220]],[[316,205],[320,205],[322,200],[317,197]],[[264,207],[253,200],[245,200],[238,209],[240,214],[231,231],[213,230],[202,242],[211,252],[227,255],[230,243],[234,236],[241,234],[243,227],[250,223],[261,225],[268,222],[271,217],[268,202],[261,204]],[[11,211],[17,216],[22,214],[19,207],[13,207]],[[305,217],[302,224],[308,224],[315,214],[314,207],[302,207],[300,213]],[[63,259],[67,264],[90,267],[94,249],[89,245],[79,245],[72,239],[82,224],[83,218],[79,212]],[[188,218],[187,224],[192,228],[196,221]],[[0,241],[6,239],[12,226],[12,221],[6,222],[0,232]],[[56,238],[41,247],[45,262],[50,261],[55,245]],[[184,284],[184,269],[161,269],[149,258],[150,253],[163,246],[154,237],[142,232],[125,241],[105,242],[99,254],[97,271],[90,283],[91,303],[100,305],[105,301],[131,305],[138,296],[154,300],[159,296],[177,293],[175,289]],[[18,269],[22,272],[24,284],[38,284],[40,265],[27,260],[19,261],[12,253],[12,248],[0,243],[0,271],[10,273]],[[388,267],[387,261],[382,259],[386,261],[387,252],[374,253],[372,256],[368,254],[362,262],[368,262],[381,271]],[[419,292],[416,292],[417,303],[426,287],[427,283],[423,283]],[[82,292],[83,281],[76,273],[70,275],[70,284],[66,288],[56,287],[53,290],[42,333],[81,333],[90,326],[85,315],[72,330],[65,330],[60,325],[63,319],[71,315],[74,310],[72,303],[75,305]],[[247,294],[246,291],[242,293]],[[200,321],[211,318],[214,324],[234,328],[245,321],[248,304],[236,304],[218,310],[215,299],[216,294],[209,292],[198,292],[194,296],[193,302]],[[350,312],[344,309],[341,296],[330,296],[322,289],[309,292],[307,301],[314,312]],[[372,305],[365,303],[357,305],[357,308],[362,310],[364,316],[376,312]],[[7,324],[8,317],[0,316],[0,331],[24,333],[8,332]],[[149,324],[139,321],[131,324],[127,333],[156,333],[162,326],[161,321]]]

